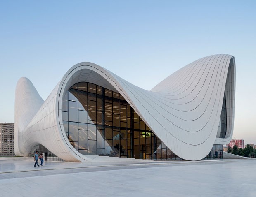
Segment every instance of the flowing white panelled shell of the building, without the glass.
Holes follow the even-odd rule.
[[[152,71],[153,72],[153,71]],[[62,119],[63,97],[79,82],[97,84],[121,96],[162,143],[180,158],[200,160],[213,144],[232,138],[235,109],[235,58],[226,54],[196,60],[171,74],[152,90],[139,88],[89,62],[74,65],[45,102],[31,81],[19,79],[15,94],[15,154],[27,156],[42,144],[66,161],[92,161],[71,146]],[[225,93],[226,127],[220,138]]]

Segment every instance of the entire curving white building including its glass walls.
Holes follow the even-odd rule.
[[[29,79],[19,79],[15,154],[28,156],[43,145],[74,162],[109,156],[222,158],[222,145],[232,138],[234,109],[231,55],[196,60],[150,91],[82,62],[66,72],[45,101]]]

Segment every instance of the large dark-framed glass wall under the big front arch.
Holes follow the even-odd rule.
[[[114,91],[80,82],[62,101],[62,118],[71,145],[84,155],[180,160]]]

